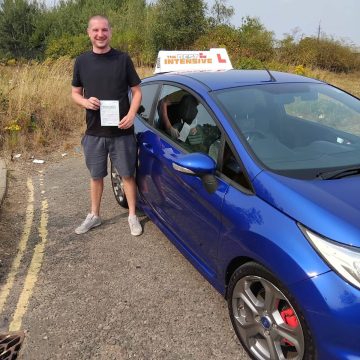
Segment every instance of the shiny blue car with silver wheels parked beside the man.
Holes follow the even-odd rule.
[[[250,357],[360,359],[360,100],[268,70],[141,86],[140,205],[225,297]]]

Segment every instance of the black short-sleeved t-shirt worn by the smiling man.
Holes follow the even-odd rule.
[[[105,54],[88,51],[80,55],[74,65],[72,86],[82,87],[85,98],[119,100],[119,119],[129,111],[129,87],[141,82],[127,53],[111,49]],[[94,136],[121,136],[134,133],[134,127],[119,129],[101,126],[100,110],[86,110],[86,134]]]

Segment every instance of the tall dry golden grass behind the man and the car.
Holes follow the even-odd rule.
[[[67,150],[85,130],[85,114],[71,100],[73,62],[0,66],[0,150],[5,153]],[[141,78],[151,68],[137,69]],[[307,76],[336,85],[360,97],[360,73],[312,70]]]

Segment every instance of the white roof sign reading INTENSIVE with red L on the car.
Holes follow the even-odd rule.
[[[209,51],[159,51],[154,73],[218,71],[232,68],[226,49],[222,48]]]

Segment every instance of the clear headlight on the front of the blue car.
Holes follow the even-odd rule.
[[[360,289],[360,248],[331,241],[300,224],[299,227],[328,265],[347,282]]]

